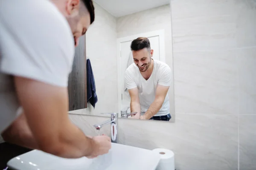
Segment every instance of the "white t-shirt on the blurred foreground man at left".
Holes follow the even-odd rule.
[[[1,0],[0,132],[20,107],[12,76],[67,87],[74,54],[70,26],[49,0]]]

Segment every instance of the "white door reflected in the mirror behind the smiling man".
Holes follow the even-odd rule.
[[[130,96],[128,91],[125,91],[125,70],[129,65],[133,63],[133,57],[130,50],[130,45],[132,40],[137,37],[147,37],[150,41],[151,49],[154,50],[153,59],[161,60],[165,62],[165,51],[164,51],[164,40],[163,40],[163,31],[153,31],[145,34],[138,34],[129,37],[120,38],[117,41],[118,45],[118,82],[119,82],[119,111],[124,108],[130,107]],[[128,113],[130,109],[128,109]]]

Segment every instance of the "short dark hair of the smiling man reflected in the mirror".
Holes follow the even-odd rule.
[[[147,48],[148,51],[151,50],[150,42],[147,37],[138,37],[131,42],[132,51],[139,51],[143,48]]]

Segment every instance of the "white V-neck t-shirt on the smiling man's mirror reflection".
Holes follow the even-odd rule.
[[[144,114],[154,102],[157,85],[170,86],[172,81],[171,68],[164,62],[153,60],[154,68],[148,80],[144,79],[135,63],[125,71],[125,87],[129,90],[138,88],[140,97],[141,114]],[[163,116],[170,113],[169,96],[163,102],[162,107],[155,116]]]

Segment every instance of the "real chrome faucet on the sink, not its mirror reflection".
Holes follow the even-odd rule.
[[[111,114],[111,120],[103,122],[101,124],[96,124],[93,125],[96,130],[100,130],[103,126],[111,124],[111,142],[113,143],[117,143],[117,137],[118,137],[118,133],[117,133],[117,119],[118,119],[118,113],[104,113],[104,114]]]

